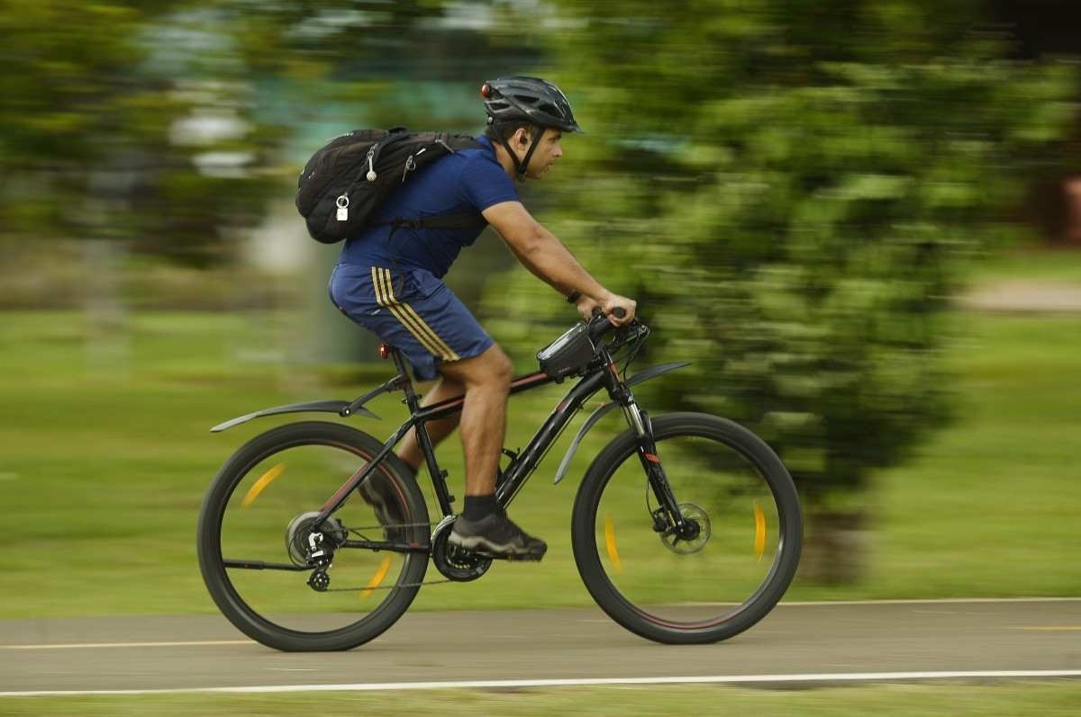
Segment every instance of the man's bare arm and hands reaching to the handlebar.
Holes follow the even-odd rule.
[[[635,317],[635,301],[601,286],[521,202],[493,204],[482,214],[526,269],[564,296],[579,292],[583,298],[578,310],[584,315],[588,316],[592,307],[599,306],[609,315],[616,307],[627,312],[620,320],[613,316],[613,323],[624,324]]]

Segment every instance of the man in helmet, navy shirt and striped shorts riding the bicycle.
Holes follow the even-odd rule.
[[[614,324],[635,317],[633,300],[609,292],[518,198],[515,179],[539,179],[562,157],[564,132],[580,132],[560,90],[531,77],[503,77],[481,87],[488,127],[482,148],[449,154],[412,177],[381,208],[376,224],[349,239],[330,280],[335,306],[409,360],[418,380],[438,379],[424,405],[465,393],[461,416],[428,423],[433,443],[461,422],[466,497],[450,542],[494,555],[539,559],[547,545],[511,522],[495,500],[506,431],[511,363],[441,278],[478,229],[392,230],[395,217],[478,212],[526,269],[588,317],[599,307]],[[612,313],[623,308],[626,314]],[[423,462],[415,432],[398,449],[414,471]],[[389,483],[361,492],[384,525],[401,523]],[[389,532],[388,532],[389,535]]]

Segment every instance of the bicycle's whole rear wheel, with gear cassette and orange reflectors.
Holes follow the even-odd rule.
[[[383,520],[355,490],[318,529],[333,552],[329,585],[308,582],[316,572],[306,559],[313,517],[382,447],[349,427],[308,421],[252,438],[225,463],[199,514],[199,566],[214,601],[240,631],[279,650],[345,650],[405,612],[427,553],[348,544],[428,544],[423,495],[392,454],[371,478],[381,481],[387,498]]]

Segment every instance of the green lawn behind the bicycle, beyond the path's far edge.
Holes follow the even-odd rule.
[[[844,587],[793,584],[788,597],[1078,595],[1081,533],[1081,316],[960,317],[949,361],[958,420],[911,462],[877,476],[868,504],[871,569]],[[351,398],[382,380],[289,366],[272,350],[296,320],[135,313],[124,329],[80,312],[0,313],[0,617],[208,612],[196,516],[217,466],[286,419],[224,434],[209,428],[280,403]],[[350,380],[344,377],[351,376]],[[550,387],[512,400],[510,447],[558,401]],[[384,396],[385,437],[403,408]],[[329,415],[328,415],[329,416]],[[550,476],[561,438],[513,505],[545,537],[539,565],[497,565],[469,584],[421,591],[421,609],[591,603],[570,546],[570,514],[589,456],[618,428],[595,431],[571,475]],[[569,432],[570,434],[571,432]],[[456,443],[441,451],[461,493]],[[435,570],[429,577],[438,577]]]

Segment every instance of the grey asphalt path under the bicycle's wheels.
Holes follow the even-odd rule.
[[[649,642],[597,609],[416,612],[313,654],[211,615],[0,621],[0,692],[926,671],[1081,671],[1081,599],[783,604],[694,647]]]

